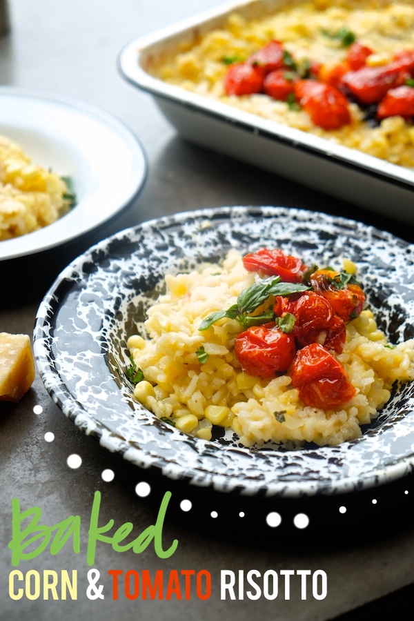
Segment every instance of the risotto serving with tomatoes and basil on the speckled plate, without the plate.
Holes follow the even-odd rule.
[[[230,250],[165,282],[146,333],[128,339],[127,375],[139,402],[196,437],[219,425],[244,446],[336,445],[414,379],[414,340],[388,342],[349,260]]]

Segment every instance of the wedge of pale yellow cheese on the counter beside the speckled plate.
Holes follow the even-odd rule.
[[[34,380],[34,360],[26,334],[0,332],[0,401],[18,402]]]

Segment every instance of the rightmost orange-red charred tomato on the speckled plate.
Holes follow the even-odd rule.
[[[344,322],[355,319],[361,313],[365,295],[359,284],[342,285],[341,275],[334,270],[316,270],[311,274],[310,281],[315,291],[326,297]]]

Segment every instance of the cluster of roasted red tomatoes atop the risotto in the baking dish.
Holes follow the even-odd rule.
[[[335,66],[308,63],[306,77],[279,41],[255,52],[244,62],[230,65],[224,78],[226,95],[266,93],[303,108],[313,124],[327,130],[351,122],[349,101],[380,121],[400,115],[414,116],[414,50],[404,50],[382,66],[367,66],[373,54],[367,46],[353,41],[346,59]],[[302,72],[303,73],[303,72]]]

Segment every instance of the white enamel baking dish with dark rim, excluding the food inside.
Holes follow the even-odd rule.
[[[228,2],[135,39],[121,51],[121,73],[150,92],[166,118],[187,139],[414,224],[414,170],[238,110],[152,75],[152,68],[177,50],[179,43],[224,24],[231,12],[237,10],[252,19],[283,4],[284,0]]]

